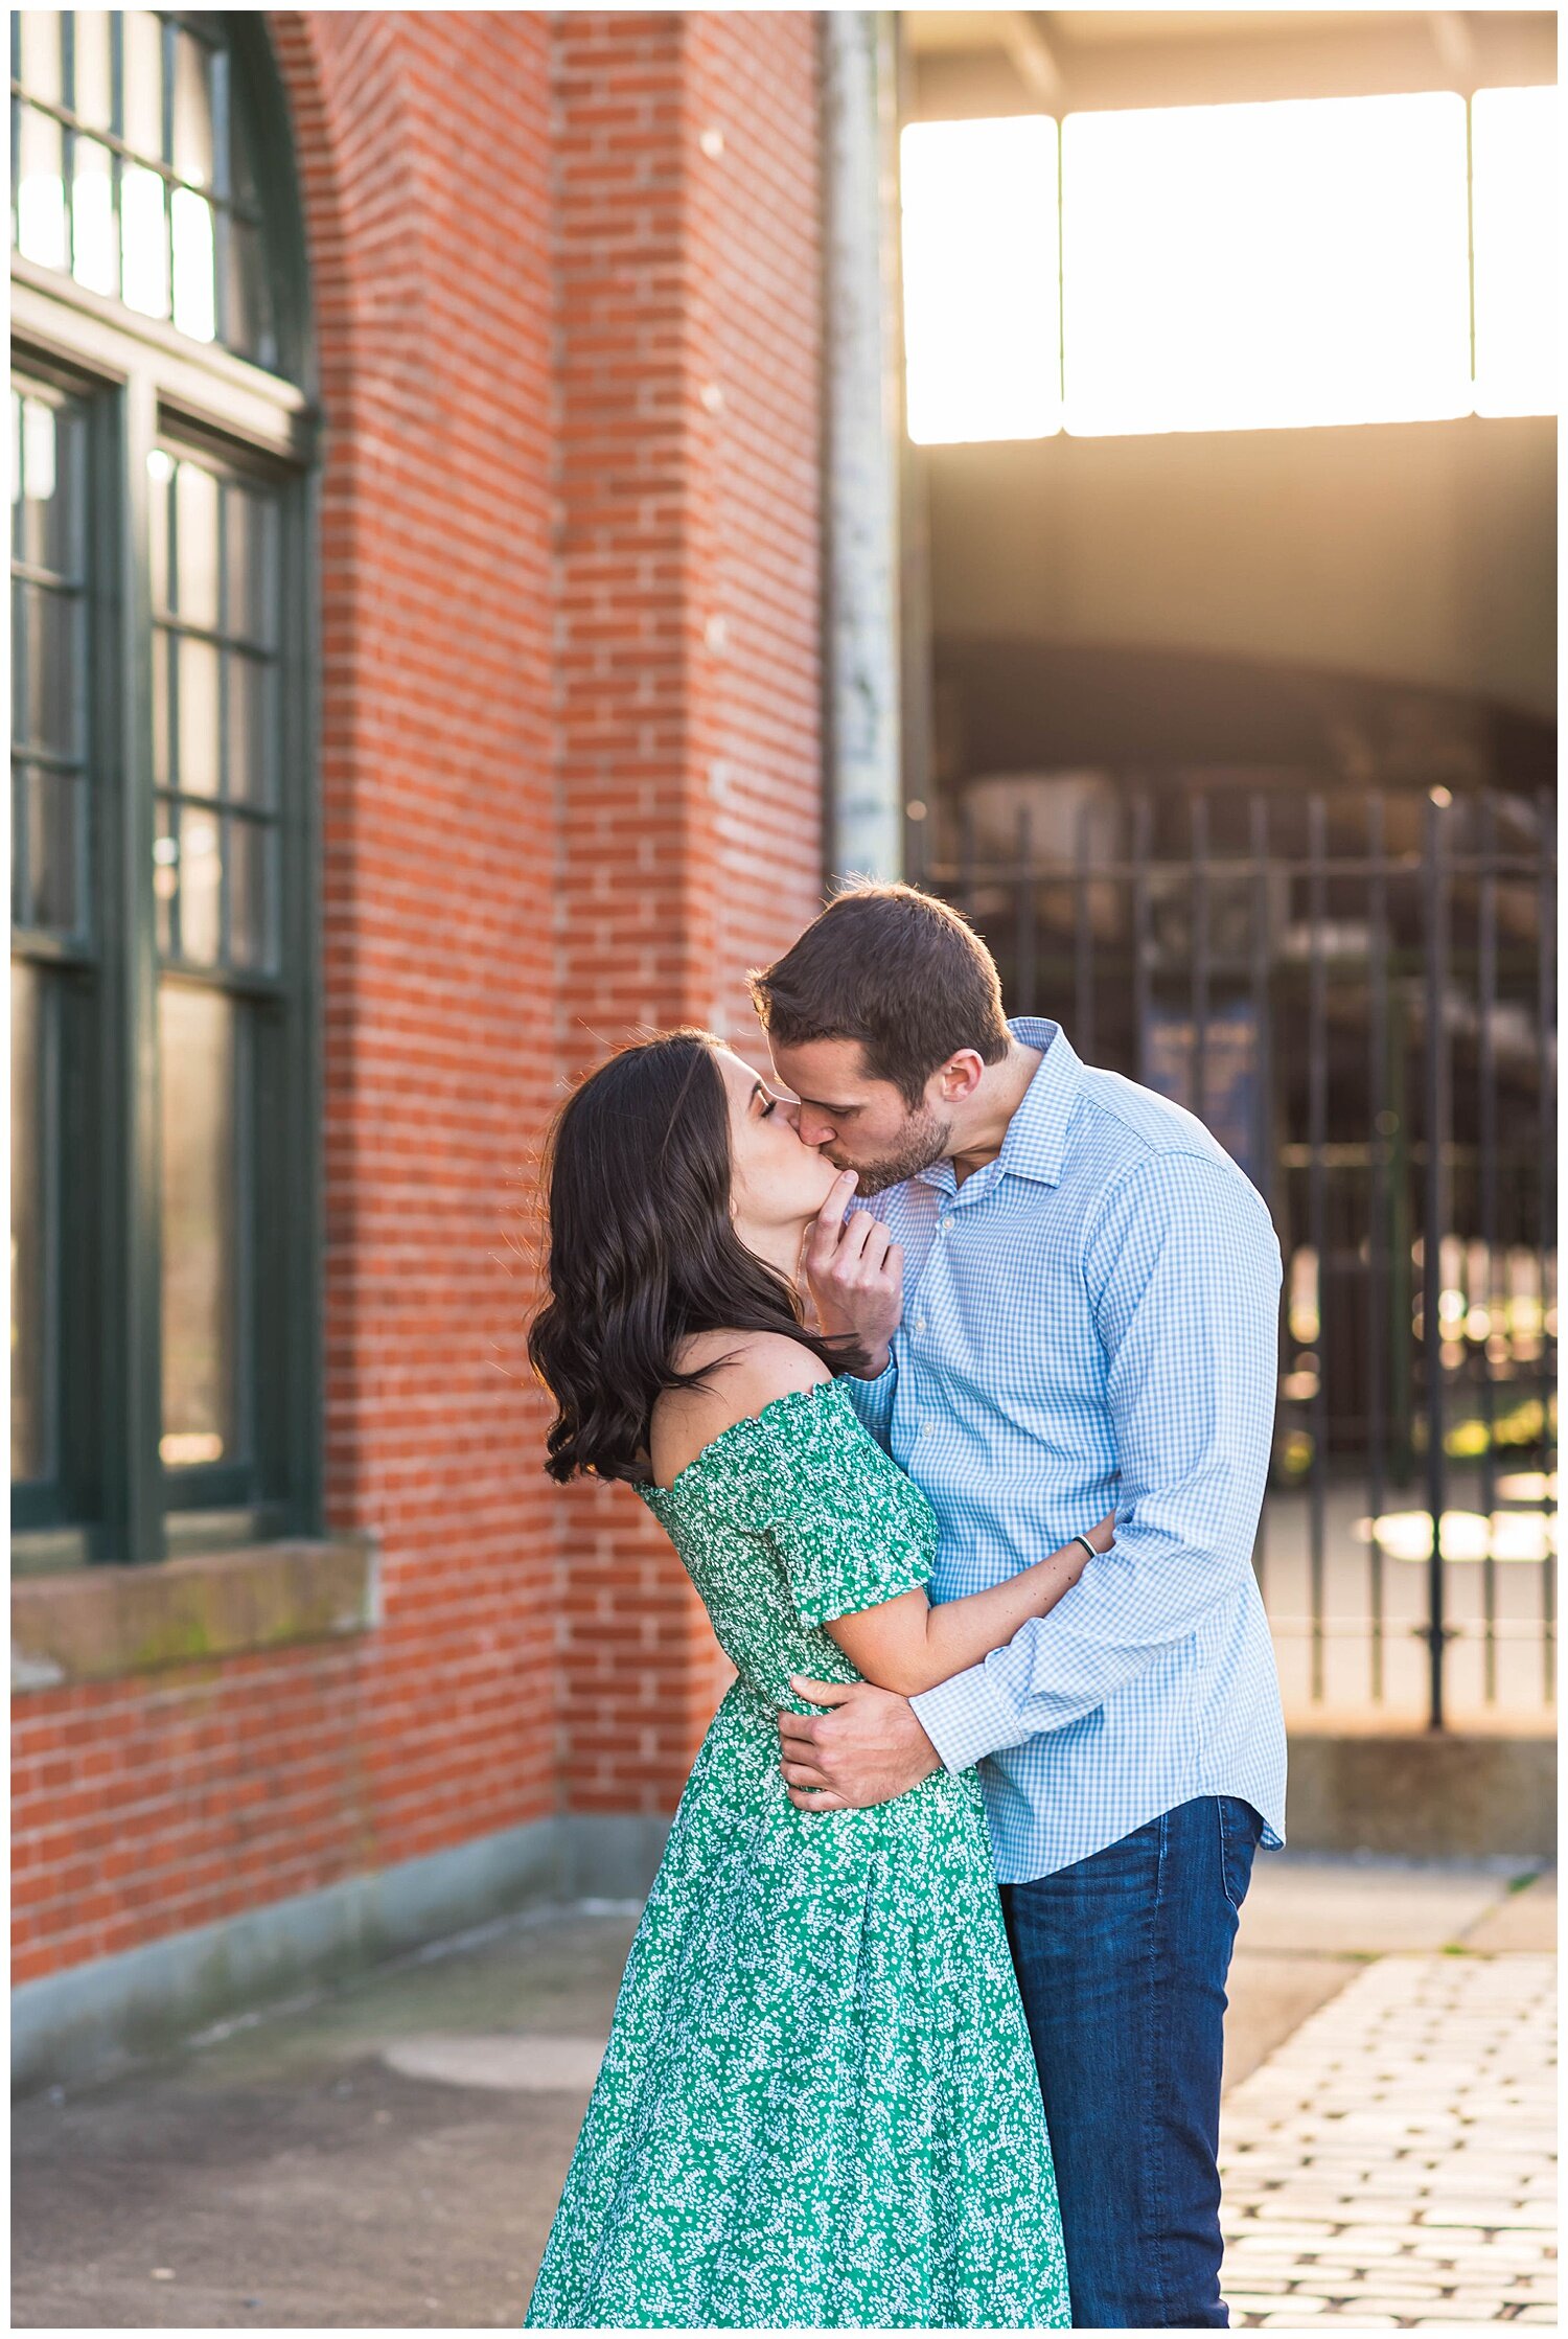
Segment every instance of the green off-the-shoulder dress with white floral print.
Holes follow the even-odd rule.
[[[925,1584],[925,1497],[839,1382],[638,1490],[736,1665],[631,1944],[528,2325],[1068,2325],[1040,2082],[979,1782],[797,1810],[790,1675]]]

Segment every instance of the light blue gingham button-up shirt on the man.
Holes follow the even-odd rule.
[[[979,1764],[1002,1883],[1049,1876],[1196,1794],[1285,1841],[1285,1724],[1253,1537],[1274,1436],[1281,1251],[1262,1198],[1180,1104],[1082,1064],[1059,1024],[1000,1153],[869,1200],[904,1319],[865,1427],[925,1490],[932,1600],[1115,1509],[1115,1551],[981,1665],[914,1698]]]

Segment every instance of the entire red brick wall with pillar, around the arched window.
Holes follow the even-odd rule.
[[[748,1036],[818,905],[816,23],[269,26],[327,423],[327,1504],[386,1616],[19,1696],[16,1981],[668,1810],[722,1684],[636,1497],[540,1471],[521,1251],[561,1078]]]

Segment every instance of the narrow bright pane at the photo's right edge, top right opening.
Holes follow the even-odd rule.
[[[1477,89],[1475,412],[1556,414],[1559,94]]]

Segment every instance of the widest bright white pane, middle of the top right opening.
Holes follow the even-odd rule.
[[[1068,115],[1066,426],[1470,412],[1465,101]]]

